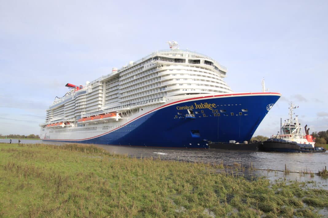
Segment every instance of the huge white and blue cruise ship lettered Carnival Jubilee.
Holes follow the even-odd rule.
[[[253,136],[281,94],[235,93],[227,69],[214,59],[179,49],[159,50],[113,68],[85,85],[67,83],[40,124],[51,142],[208,148]]]

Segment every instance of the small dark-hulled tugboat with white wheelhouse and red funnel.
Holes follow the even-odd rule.
[[[323,147],[315,147],[315,140],[309,134],[310,128],[305,125],[305,135],[301,124],[298,123],[298,115],[293,118],[293,110],[298,108],[293,103],[289,104],[289,119],[281,127],[280,134],[273,135],[270,139],[263,142],[263,151],[277,152],[325,152]],[[281,122],[280,122],[281,123]]]

